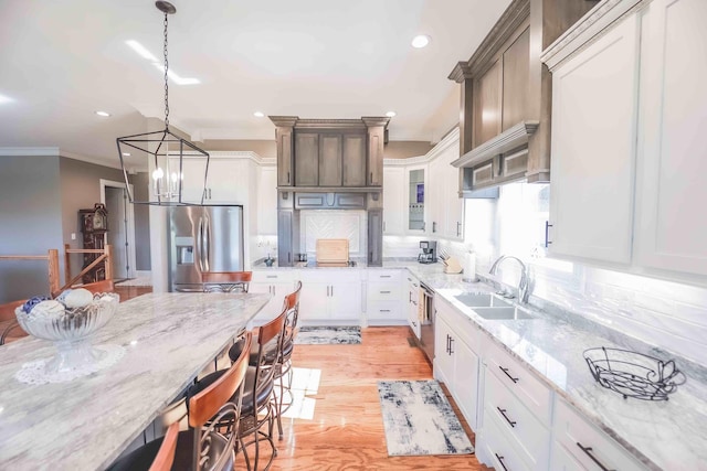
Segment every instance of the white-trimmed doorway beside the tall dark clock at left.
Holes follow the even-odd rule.
[[[108,211],[105,243],[113,246],[113,277],[135,278],[135,214],[125,183],[101,180],[101,202]]]

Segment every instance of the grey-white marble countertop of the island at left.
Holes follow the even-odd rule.
[[[22,364],[51,357],[25,338],[0,354],[0,469],[102,470],[270,300],[270,295],[150,293],[118,306],[94,344],[117,364],[66,383],[29,385]]]

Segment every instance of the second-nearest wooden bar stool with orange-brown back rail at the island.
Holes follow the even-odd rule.
[[[250,351],[252,338],[250,332],[245,334],[244,352]],[[165,469],[233,470],[247,360],[249,355],[243,354],[229,370],[220,372],[215,381],[189,398],[190,428],[178,433],[173,463]],[[172,429],[178,430],[179,425],[172,424],[167,436],[138,448],[113,463],[108,470],[151,471],[150,467]]]

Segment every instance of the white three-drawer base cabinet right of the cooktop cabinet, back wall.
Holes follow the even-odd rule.
[[[366,320],[368,325],[400,325],[408,323],[402,301],[405,285],[402,270],[367,270]]]

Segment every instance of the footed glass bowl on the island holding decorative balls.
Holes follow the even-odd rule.
[[[91,368],[105,356],[105,352],[91,345],[91,336],[103,328],[118,309],[119,296],[96,293],[91,303],[81,308],[65,308],[59,315],[38,315],[14,310],[18,322],[27,333],[54,342],[56,355],[45,365],[46,374],[70,373]]]

